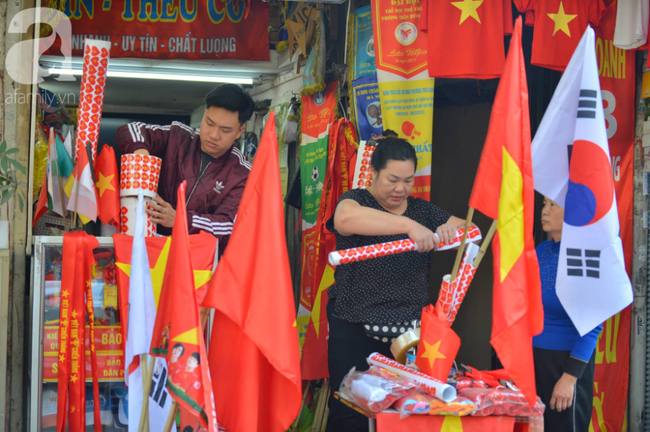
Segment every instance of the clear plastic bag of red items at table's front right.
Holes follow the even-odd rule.
[[[538,397],[534,407],[528,405],[524,394],[506,388],[464,388],[458,391],[476,406],[473,416],[502,415],[508,417],[530,417],[544,415],[545,406]]]

